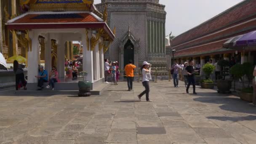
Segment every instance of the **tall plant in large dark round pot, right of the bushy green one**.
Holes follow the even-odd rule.
[[[217,80],[218,93],[231,93],[232,80],[226,80],[229,61],[224,59],[219,60],[218,65],[221,67],[221,78]]]

